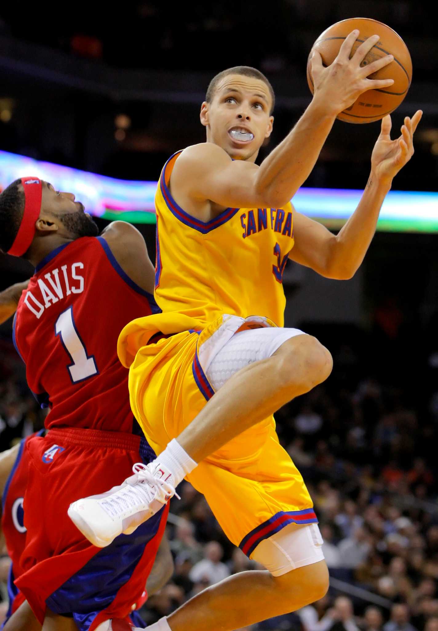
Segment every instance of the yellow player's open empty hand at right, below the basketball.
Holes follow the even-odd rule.
[[[390,136],[391,116],[383,117],[380,136],[371,155],[371,170],[379,181],[391,184],[393,177],[412,158],[413,134],[422,115],[422,110],[417,110],[412,119],[406,116],[401,135],[395,140],[391,140]]]

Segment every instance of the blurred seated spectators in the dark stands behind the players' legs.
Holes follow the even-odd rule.
[[[280,442],[314,500],[331,587],[318,603],[251,631],[438,631],[436,352],[430,342],[429,353],[403,381],[394,363],[399,355],[382,339],[378,343],[374,372],[369,367],[376,362],[362,361],[357,349],[330,345],[331,377],[277,413]],[[0,344],[0,441],[6,449],[42,427],[44,412],[12,346]],[[372,355],[370,340],[366,347]],[[420,382],[426,384],[421,391]],[[179,493],[167,527],[175,572],[144,606],[147,623],[228,575],[260,569],[229,543],[190,484],[183,482]]]

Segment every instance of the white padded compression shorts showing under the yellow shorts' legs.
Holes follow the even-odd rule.
[[[221,348],[207,369],[207,377],[215,391],[234,373],[250,363],[267,359],[287,340],[305,335],[299,329],[266,327],[235,333]],[[278,533],[261,541],[251,558],[261,563],[274,576],[280,576],[324,558],[323,540],[317,524],[289,524]]]

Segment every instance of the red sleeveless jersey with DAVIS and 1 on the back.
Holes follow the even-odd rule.
[[[54,427],[132,432],[128,370],[117,357],[122,328],[159,312],[102,237],[81,237],[35,269],[14,318],[28,386]]]

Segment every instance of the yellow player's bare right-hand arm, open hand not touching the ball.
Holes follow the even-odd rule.
[[[383,200],[395,175],[413,155],[413,134],[422,117],[406,116],[399,138],[391,140],[391,117],[385,116],[371,156],[371,174],[353,215],[337,235],[317,221],[294,212],[295,245],[289,257],[314,271],[339,280],[351,278],[364,260],[376,230]]]

